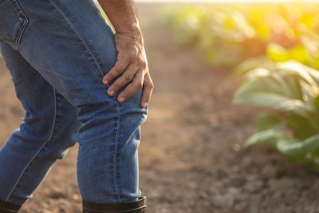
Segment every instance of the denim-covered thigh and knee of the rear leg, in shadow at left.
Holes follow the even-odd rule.
[[[55,138],[61,137],[62,134],[64,138],[59,138],[61,141],[67,143],[69,140],[74,144],[75,136],[81,127],[77,121],[78,108],[65,100],[18,51],[1,39],[0,50],[12,76],[16,96],[25,109],[18,131],[24,136],[19,136],[20,139],[26,137],[27,140],[40,142],[49,140],[52,134],[56,134],[53,135]],[[59,128],[54,130],[54,127]],[[63,131],[65,132],[62,133]]]

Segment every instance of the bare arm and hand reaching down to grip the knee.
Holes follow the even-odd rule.
[[[141,106],[146,107],[152,94],[153,83],[148,72],[143,36],[134,3],[132,0],[98,0],[98,2],[116,31],[114,41],[118,52],[117,62],[104,76],[102,83],[108,84],[121,75],[108,89],[109,96],[113,96],[130,82],[118,95],[119,102],[126,101],[144,86]]]

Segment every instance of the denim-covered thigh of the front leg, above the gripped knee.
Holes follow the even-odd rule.
[[[101,80],[115,64],[117,52],[113,31],[93,1],[9,2],[16,3],[11,7],[19,7],[17,14],[26,20],[12,21],[17,14],[0,20],[0,26],[11,22],[23,29],[11,39],[18,43],[9,41],[15,50],[74,106],[108,101]]]

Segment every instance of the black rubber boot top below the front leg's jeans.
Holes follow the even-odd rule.
[[[146,213],[146,197],[134,203],[96,204],[83,200],[83,213]]]

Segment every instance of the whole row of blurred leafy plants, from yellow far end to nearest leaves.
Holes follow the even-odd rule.
[[[263,143],[319,171],[319,4],[201,5],[165,10],[176,42],[235,67],[234,103],[263,107],[246,146]],[[239,64],[239,65],[238,65]]]

